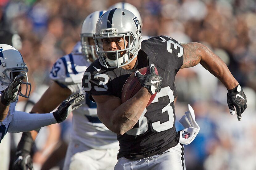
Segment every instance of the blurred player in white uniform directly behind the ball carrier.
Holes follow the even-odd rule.
[[[81,43],[78,42],[70,54],[53,65],[50,72],[53,83],[35,104],[33,112],[52,110],[65,96],[84,92],[82,77],[86,68],[97,58],[93,34],[97,20],[104,12],[96,11],[86,17],[81,29]],[[71,138],[63,169],[114,169],[119,143],[116,134],[97,118],[96,103],[86,96],[81,108],[72,113]]]

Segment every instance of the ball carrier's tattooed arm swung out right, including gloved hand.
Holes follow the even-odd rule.
[[[181,68],[193,67],[200,63],[205,69],[217,77],[228,89],[227,103],[231,115],[237,113],[237,119],[242,119],[242,113],[246,109],[246,95],[241,86],[233,77],[226,64],[203,44],[192,42],[182,44],[184,48],[184,60]]]

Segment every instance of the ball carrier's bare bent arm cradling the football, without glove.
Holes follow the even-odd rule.
[[[122,135],[138,122],[143,110],[146,108],[151,94],[147,88],[142,87],[131,99],[122,103],[115,96],[96,96],[97,115],[102,123],[111,131]]]

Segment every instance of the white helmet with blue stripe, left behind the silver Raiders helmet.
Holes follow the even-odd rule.
[[[96,60],[97,56],[95,56],[95,46],[89,44],[89,38],[93,38],[93,34],[95,33],[95,26],[99,17],[104,14],[106,11],[95,11],[89,14],[82,24],[81,29],[81,45],[82,45],[82,53],[89,59]]]

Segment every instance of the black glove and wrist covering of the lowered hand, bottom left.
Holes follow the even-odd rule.
[[[30,156],[34,141],[30,132],[23,132],[14,157],[13,170],[33,170],[33,162]]]

